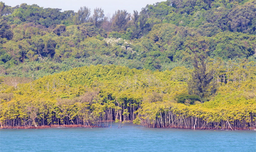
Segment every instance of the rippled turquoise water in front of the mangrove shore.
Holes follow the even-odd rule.
[[[145,128],[1,129],[0,151],[256,151],[251,130]]]

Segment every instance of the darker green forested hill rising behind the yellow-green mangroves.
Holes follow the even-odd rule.
[[[223,62],[255,61],[250,1],[163,1],[133,14],[0,3],[0,75],[36,79],[73,67],[192,67],[193,54]]]

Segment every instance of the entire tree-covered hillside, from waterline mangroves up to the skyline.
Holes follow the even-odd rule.
[[[0,2],[0,123],[256,127],[255,1],[133,14]]]

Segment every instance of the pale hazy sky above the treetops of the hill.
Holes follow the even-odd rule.
[[[127,10],[129,13],[133,13],[133,10],[141,11],[142,7],[147,4],[154,4],[156,2],[165,0],[0,0],[9,6],[16,6],[22,3],[37,4],[40,7],[60,8],[64,10],[77,10],[81,6],[86,6],[91,9],[101,7],[104,10],[105,15],[112,15],[116,10]]]

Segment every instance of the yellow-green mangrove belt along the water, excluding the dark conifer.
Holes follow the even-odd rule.
[[[233,128],[238,125],[236,121],[245,122],[238,129],[255,127],[255,67],[251,62],[239,65],[243,64],[246,70],[234,66],[228,70],[224,67],[224,72],[215,69],[214,77],[219,81],[216,95],[208,102],[189,106],[175,101],[177,95],[187,93],[191,70],[185,67],[152,72],[114,65],[85,66],[16,88],[1,83],[0,122],[8,126],[102,126],[102,122],[106,125],[109,120],[122,121],[127,116],[127,120],[148,127],[192,128],[197,119],[203,124],[196,128],[228,128],[227,122]],[[214,66],[210,63],[208,68]],[[222,81],[223,73],[228,80]]]

